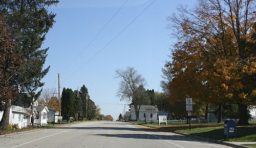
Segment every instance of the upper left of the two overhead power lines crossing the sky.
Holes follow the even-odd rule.
[[[62,70],[60,73],[64,72],[65,70],[67,70],[76,60],[77,58],[83,53],[83,51],[85,51],[91,44],[92,42],[99,36],[99,34],[103,31],[103,29],[106,27],[106,25],[108,25],[111,20],[116,16],[116,14],[123,8],[123,6],[127,3],[128,0],[126,0],[123,5],[117,10],[117,12],[111,17],[111,19],[101,28],[101,30],[98,32],[98,34],[89,42],[89,44],[86,46],[86,48],[84,48],[77,56],[76,58],[64,69]]]

